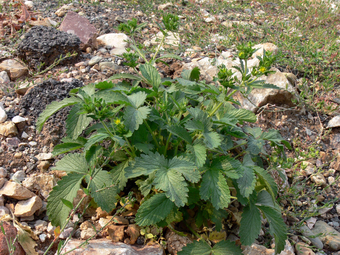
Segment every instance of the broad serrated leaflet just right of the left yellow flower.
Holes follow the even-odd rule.
[[[131,132],[134,132],[139,128],[139,125],[143,123],[151,112],[149,106],[142,106],[135,109],[131,106],[127,106],[124,112],[124,124]]]

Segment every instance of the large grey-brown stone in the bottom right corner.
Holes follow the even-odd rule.
[[[340,250],[340,233],[333,227],[329,226],[326,222],[318,220],[314,228],[312,229],[314,235],[323,233],[325,235],[320,236],[320,240],[325,246],[328,246],[330,250]]]

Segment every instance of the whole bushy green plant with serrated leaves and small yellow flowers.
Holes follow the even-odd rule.
[[[163,17],[159,27],[164,37],[151,60],[134,39],[142,27],[135,19],[119,26],[132,38],[136,53],[130,51],[124,57],[135,75],[118,73],[111,81],[73,89],[69,98],[52,102],[37,119],[40,131],[52,114],[72,106],[66,120],[67,137],[54,147],[53,155],[79,150],[55,164],[56,170],[67,175],[50,193],[49,220],[65,226],[70,210],[77,209],[71,201],[79,188],[110,212],[126,183],[134,182],[144,196],[135,218],[139,226],[172,228],[172,223],[193,220],[200,228],[210,221],[221,231],[229,217],[226,208],[237,200],[243,205],[241,243],[251,245],[262,228],[275,239],[275,253],[280,253],[287,238],[286,225],[276,202],[277,185],[263,166],[268,160],[264,146],[268,142],[283,154],[284,145],[290,146],[274,129],[263,132],[246,125],[256,121],[255,114],[235,107],[238,103],[232,98],[237,91],[248,95],[253,88],[277,88],[260,79],[272,73],[275,57],[263,52],[259,66],[250,70],[247,60],[257,49],[241,44],[237,48],[241,64],[234,67],[242,74],[240,80],[223,65],[218,67],[217,85],[199,81],[198,68],[183,70],[173,80],[161,79],[153,64],[164,57],[178,58],[169,54],[157,58],[167,32],[178,28],[178,17]],[[139,66],[140,74],[137,54],[146,62]],[[125,80],[113,83],[115,79]],[[88,126],[92,120],[96,124]],[[267,218],[268,227],[261,225],[261,215]],[[200,238],[178,254],[241,255],[235,242],[214,244]]]

